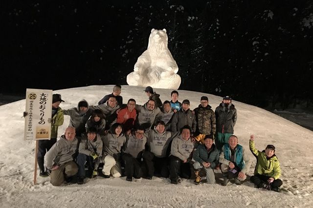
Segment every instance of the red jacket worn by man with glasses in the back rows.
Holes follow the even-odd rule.
[[[137,117],[137,110],[133,109],[132,112],[128,108],[123,108],[118,112],[116,123],[122,124],[124,132],[133,128]]]

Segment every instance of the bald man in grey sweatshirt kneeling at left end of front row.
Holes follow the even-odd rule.
[[[46,153],[45,164],[51,170],[50,182],[53,186],[61,186],[64,180],[75,181],[78,167],[73,161],[73,155],[77,151],[77,143],[75,128],[67,127],[64,135]]]

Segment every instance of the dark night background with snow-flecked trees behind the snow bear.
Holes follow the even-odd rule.
[[[179,89],[268,108],[313,105],[312,0],[0,4],[3,94],[127,84],[151,29],[165,28]]]

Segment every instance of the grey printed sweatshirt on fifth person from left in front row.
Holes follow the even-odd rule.
[[[166,157],[167,149],[173,140],[172,134],[169,131],[159,133],[156,129],[150,130],[147,140],[147,145],[151,153],[158,158]]]

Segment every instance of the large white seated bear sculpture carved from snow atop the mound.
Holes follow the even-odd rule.
[[[178,89],[180,76],[178,66],[167,48],[166,30],[151,30],[148,48],[138,57],[134,72],[127,75],[132,86]]]

